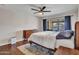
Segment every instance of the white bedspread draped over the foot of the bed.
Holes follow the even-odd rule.
[[[47,48],[54,49],[56,45],[56,35],[58,33],[59,32],[55,31],[44,31],[44,32],[33,33],[28,40],[31,40]]]

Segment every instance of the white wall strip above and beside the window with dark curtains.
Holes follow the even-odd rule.
[[[56,14],[56,15],[46,16],[44,18],[50,20],[53,18],[64,17],[64,16],[68,16],[68,15],[71,15],[71,28],[74,31],[75,30],[75,22],[78,21],[78,9],[74,9],[74,10]],[[43,18],[41,18],[41,21],[40,21],[41,24],[43,23],[42,19]],[[42,29],[43,29],[43,25],[40,25],[40,30],[42,30]]]

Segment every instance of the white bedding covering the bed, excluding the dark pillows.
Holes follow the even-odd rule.
[[[58,34],[59,32],[56,31],[37,32],[33,33],[28,40],[31,43],[35,43],[52,50],[55,50],[55,48],[58,48],[59,46],[74,48],[74,37],[68,40],[66,39],[57,40],[56,37]]]

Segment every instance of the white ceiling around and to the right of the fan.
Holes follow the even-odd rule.
[[[44,16],[49,16],[77,9],[78,4],[35,4],[31,6],[36,8],[46,6],[45,10],[51,10],[52,12],[44,13]]]

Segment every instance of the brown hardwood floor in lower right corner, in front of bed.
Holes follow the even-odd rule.
[[[60,46],[55,52],[55,55],[79,55],[79,50]]]

